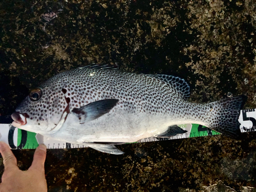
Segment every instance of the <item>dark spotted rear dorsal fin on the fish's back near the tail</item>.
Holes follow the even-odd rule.
[[[183,99],[187,99],[190,95],[189,85],[187,84],[187,82],[184,79],[182,79],[180,77],[175,77],[172,75],[147,75],[147,76],[167,82],[172,88],[177,90],[177,93]]]

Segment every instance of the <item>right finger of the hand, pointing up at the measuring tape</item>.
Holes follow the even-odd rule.
[[[34,159],[29,169],[42,168],[42,170],[44,170],[45,161],[46,161],[46,145],[39,144],[39,146],[35,150]]]

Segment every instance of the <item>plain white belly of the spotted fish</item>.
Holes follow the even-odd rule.
[[[124,111],[105,114],[98,119],[79,123],[72,113],[53,134],[43,134],[55,140],[71,143],[136,142],[163,133],[170,122],[167,116],[147,113],[127,114]]]

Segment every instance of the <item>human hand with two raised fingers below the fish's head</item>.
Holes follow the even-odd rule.
[[[32,165],[28,170],[20,170],[17,159],[10,147],[0,141],[0,153],[3,156],[5,166],[0,183],[0,192],[46,192],[47,183],[45,177],[46,146],[40,144],[34,153]]]

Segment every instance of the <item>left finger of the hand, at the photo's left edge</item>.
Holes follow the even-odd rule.
[[[8,167],[17,167],[17,159],[13,155],[10,147],[3,141],[0,141],[0,153],[4,159],[5,169]]]

